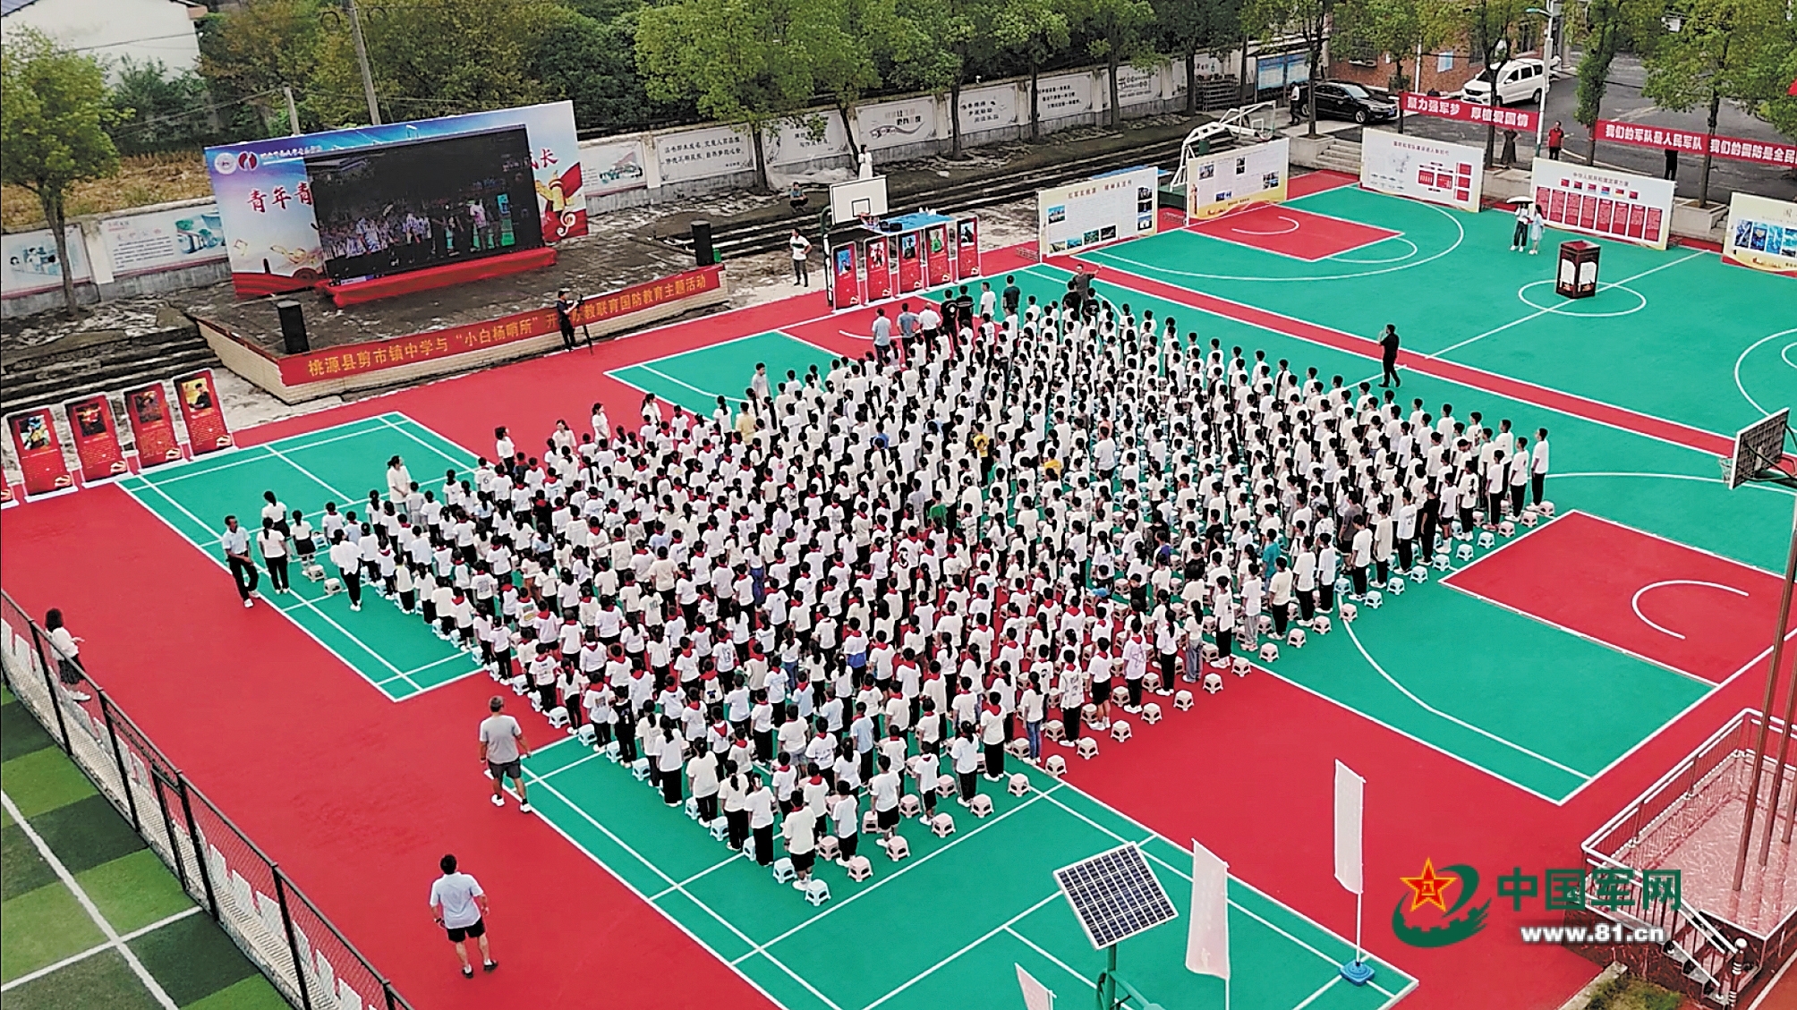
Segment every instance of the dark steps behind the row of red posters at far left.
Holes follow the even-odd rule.
[[[0,383],[0,412],[117,392],[217,365],[199,327],[185,316],[171,316],[162,322],[180,323],[140,336],[126,336],[124,331],[75,332],[41,347],[9,352]]]

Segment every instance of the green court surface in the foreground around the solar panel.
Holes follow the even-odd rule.
[[[1028,794],[981,780],[992,798],[983,820],[942,800],[954,834],[936,837],[916,820],[902,821],[898,834],[911,845],[904,861],[888,861],[863,836],[861,854],[873,863],[868,881],[819,861],[830,900],[818,908],[571,739],[536,751],[525,778],[537,816],[791,1010],[1012,1006],[1014,963],[1060,1005],[1085,1006],[1103,954],[1053,872],[1123,843],[1143,846],[1181,918],[1125,940],[1120,972],[1166,1010],[1222,1006],[1224,983],[1184,969],[1191,852],[1069,784],[1021,762],[1008,767],[1030,776]],[[775,848],[783,854],[778,841]],[[1353,958],[1350,942],[1236,879],[1229,951],[1233,1010],[1377,1008],[1416,985],[1371,958],[1373,983],[1348,985],[1339,967]]]

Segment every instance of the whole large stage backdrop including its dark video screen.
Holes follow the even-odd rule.
[[[586,234],[573,102],[207,147],[207,173],[239,297]]]

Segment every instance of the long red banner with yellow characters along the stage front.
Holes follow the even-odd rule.
[[[722,270],[722,266],[713,264],[622,291],[584,297],[573,311],[573,325],[582,327],[600,320],[615,320],[652,309],[663,302],[715,291],[724,284]],[[532,309],[483,323],[433,329],[394,340],[368,340],[307,354],[289,354],[280,358],[280,381],[289,386],[302,386],[305,383],[399,368],[417,361],[453,358],[553,332],[557,332],[555,309]]]

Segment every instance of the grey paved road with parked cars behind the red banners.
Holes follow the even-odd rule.
[[[1576,52],[1567,59],[1567,66],[1578,66]],[[1619,56],[1616,63],[1610,65],[1610,88],[1603,99],[1603,119],[1617,119],[1642,126],[1669,126],[1696,133],[1704,131],[1709,119],[1707,108],[1691,111],[1669,111],[1657,108],[1651,101],[1641,97],[1641,84],[1644,79],[1646,68],[1641,66],[1639,59],[1632,56]],[[1583,162],[1589,138],[1585,135],[1585,128],[1572,119],[1576,97],[1578,79],[1556,79],[1547,93],[1547,126],[1553,126],[1558,119],[1567,131],[1567,144],[1562,158]],[[1457,144],[1472,144],[1477,147],[1484,146],[1486,128],[1472,122],[1416,115],[1405,117],[1403,128],[1409,133],[1432,137],[1436,140],[1454,140]],[[1722,104],[1722,115],[1716,119],[1716,133],[1723,137],[1781,140],[1790,144],[1788,137],[1779,137],[1772,126],[1743,113],[1729,102]],[[1502,133],[1497,142],[1499,151],[1502,151]],[[1522,164],[1527,164],[1527,149],[1533,142],[1535,138],[1527,135],[1517,138],[1517,151],[1522,155]],[[1542,156],[1545,156],[1545,147]],[[1598,164],[1659,176],[1666,169],[1666,156],[1662,151],[1653,147],[1599,144]],[[1696,198],[1698,180],[1702,178],[1700,164],[1702,160],[1696,155],[1680,155],[1678,196]],[[1709,173],[1709,198],[1718,203],[1729,203],[1729,194],[1738,189],[1775,199],[1797,199],[1797,178],[1793,178],[1786,169],[1716,158]]]

